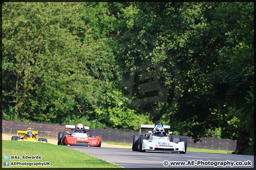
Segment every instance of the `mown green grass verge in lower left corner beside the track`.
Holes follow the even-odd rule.
[[[2,158],[9,155],[9,160],[2,159],[2,168],[122,168],[94,156],[74,149],[42,142],[2,141]],[[11,155],[41,156],[41,159],[11,159]],[[9,161],[9,166],[4,166]],[[11,162],[50,162],[50,166],[14,166]]]

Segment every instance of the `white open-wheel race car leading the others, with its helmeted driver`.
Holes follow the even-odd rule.
[[[141,134],[142,129],[153,129],[153,131]],[[179,137],[178,135],[170,135],[172,134],[172,132],[170,132],[170,126],[164,126],[161,121],[156,121],[155,125],[140,125],[139,133],[140,134],[133,135],[133,151],[165,151],[183,154],[187,152],[186,138]]]

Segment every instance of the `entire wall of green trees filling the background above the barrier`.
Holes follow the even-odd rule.
[[[3,119],[162,120],[253,152],[253,2],[7,2],[2,13]]]

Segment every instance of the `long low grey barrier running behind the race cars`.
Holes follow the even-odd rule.
[[[64,124],[32,123],[24,121],[18,122],[12,120],[2,120],[2,133],[17,134],[17,130],[26,130],[27,128],[34,128],[34,130],[38,131],[39,137],[51,137],[57,139],[58,133],[64,131],[64,126]],[[101,135],[102,142],[119,143],[132,143],[133,134],[139,134],[139,132],[134,130],[122,130],[112,128],[90,128],[90,133]],[[180,137],[187,138],[187,147],[189,148],[220,149],[226,151],[234,151],[236,149],[236,140],[202,137],[200,138],[201,142],[194,143],[192,137]]]

